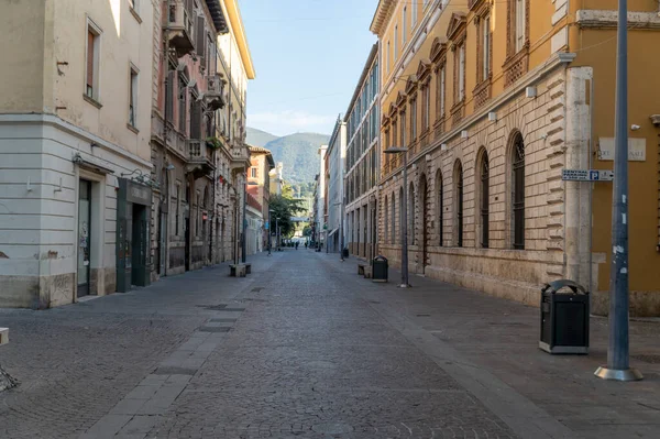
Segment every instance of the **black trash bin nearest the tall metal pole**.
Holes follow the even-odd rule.
[[[541,289],[541,340],[549,353],[588,353],[590,294],[573,281],[554,281]]]

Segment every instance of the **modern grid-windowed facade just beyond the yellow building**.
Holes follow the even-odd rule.
[[[349,252],[371,260],[377,241],[381,178],[378,44],[374,44],[344,116],[345,233]]]

